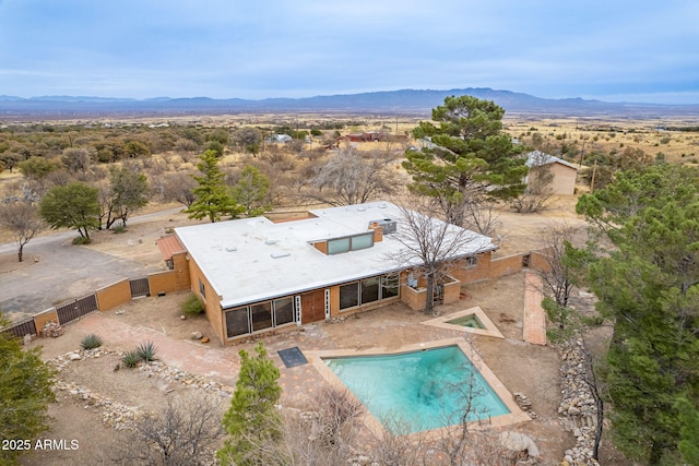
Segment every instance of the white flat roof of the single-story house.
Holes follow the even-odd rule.
[[[202,273],[221,297],[221,306],[250,302],[327,287],[404,268],[395,258],[404,247],[384,235],[372,248],[327,255],[312,241],[368,231],[370,222],[395,219],[401,211],[389,202],[310,211],[317,217],[272,223],[244,218],[175,228]],[[457,227],[453,227],[457,228]],[[496,249],[490,238],[470,232],[458,255]]]

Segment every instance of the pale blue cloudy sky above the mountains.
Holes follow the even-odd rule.
[[[0,0],[0,95],[699,104],[697,0]]]

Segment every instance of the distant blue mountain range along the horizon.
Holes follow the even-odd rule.
[[[450,95],[471,95],[493,100],[507,112],[552,116],[628,116],[663,117],[699,113],[699,105],[628,104],[550,99],[510,91],[461,88],[449,91],[387,91],[305,98],[266,98],[260,100],[209,97],[149,99],[44,96],[22,98],[0,95],[0,120],[37,120],[99,117],[168,117],[196,115],[235,115],[260,112],[336,112],[378,115],[429,115],[431,108]]]

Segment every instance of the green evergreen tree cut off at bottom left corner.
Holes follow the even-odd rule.
[[[8,324],[0,313],[0,328]],[[25,442],[48,429],[48,404],[55,401],[55,370],[42,361],[40,348],[23,350],[19,338],[0,332],[0,439]],[[0,449],[0,464],[17,464],[32,445]]]

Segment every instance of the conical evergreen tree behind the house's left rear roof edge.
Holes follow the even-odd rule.
[[[228,193],[225,175],[218,167],[216,153],[214,151],[204,152],[197,168],[203,175],[201,177],[193,176],[199,186],[192,189],[197,200],[185,211],[189,214],[189,218],[209,217],[213,223],[221,220],[224,215],[237,217],[240,208]]]

